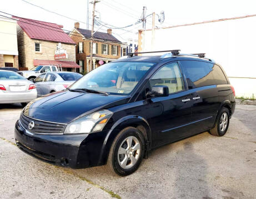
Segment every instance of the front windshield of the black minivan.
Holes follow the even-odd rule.
[[[112,94],[127,95],[132,92],[152,62],[112,62],[89,72],[74,83],[71,89],[91,89]]]

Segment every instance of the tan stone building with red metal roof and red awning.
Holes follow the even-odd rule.
[[[31,70],[38,65],[62,66],[63,71],[79,71],[76,43],[64,33],[63,26],[18,18],[19,66]]]

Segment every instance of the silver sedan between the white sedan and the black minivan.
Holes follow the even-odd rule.
[[[47,72],[34,79],[37,87],[37,96],[43,96],[48,93],[65,90],[82,75],[77,72]]]

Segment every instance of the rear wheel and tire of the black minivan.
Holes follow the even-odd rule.
[[[221,125],[222,124],[222,125]],[[217,117],[214,128],[210,129],[210,134],[221,137],[225,135],[229,126],[229,110],[223,107]]]

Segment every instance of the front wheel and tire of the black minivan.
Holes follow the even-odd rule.
[[[131,148],[128,147],[130,140],[132,140]],[[108,170],[114,175],[130,175],[138,169],[144,152],[145,141],[142,133],[134,127],[124,128],[118,133],[112,143],[107,160]]]

